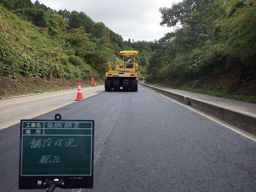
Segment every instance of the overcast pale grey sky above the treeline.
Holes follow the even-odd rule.
[[[32,0],[34,3],[36,0]],[[84,12],[94,22],[103,22],[124,40],[154,41],[172,28],[160,26],[159,8],[182,0],[38,0],[53,10]]]

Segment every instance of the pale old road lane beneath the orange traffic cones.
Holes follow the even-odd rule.
[[[82,88],[84,98],[104,91],[103,86]],[[0,130],[76,102],[77,89],[32,94],[0,100]]]

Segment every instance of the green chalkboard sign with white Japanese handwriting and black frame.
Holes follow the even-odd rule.
[[[92,188],[93,154],[94,120],[21,120],[19,189]]]

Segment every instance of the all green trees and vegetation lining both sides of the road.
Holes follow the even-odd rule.
[[[106,62],[137,50],[140,81],[256,102],[256,0],[183,0],[160,12],[160,24],[175,29],[134,42],[84,12],[0,0],[0,97],[90,86],[92,76],[102,84]]]

